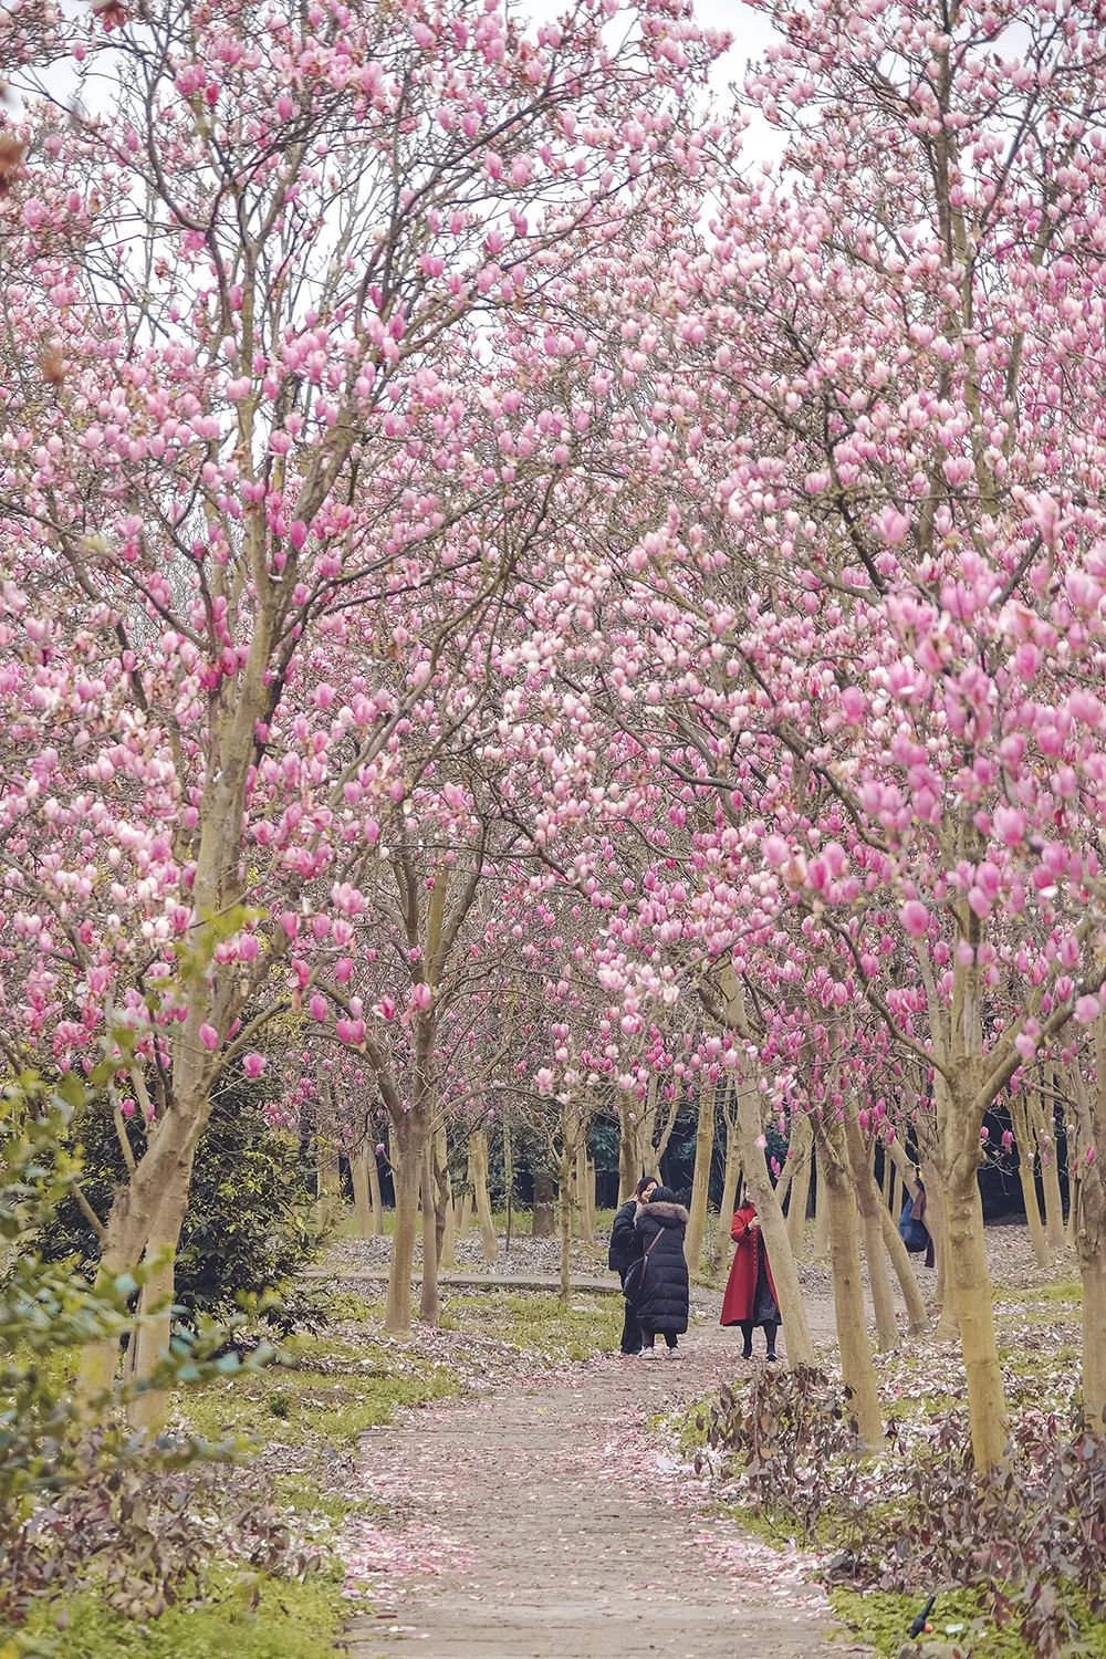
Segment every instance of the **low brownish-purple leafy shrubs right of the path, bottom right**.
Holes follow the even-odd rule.
[[[962,1588],[1026,1651],[1055,1659],[1106,1613],[1106,1437],[1081,1415],[1026,1412],[1008,1465],[978,1475],[968,1425],[892,1422],[861,1460],[847,1397],[819,1372],[768,1372],[698,1413],[710,1468],[754,1515],[832,1545],[829,1583],[927,1594]],[[904,1654],[929,1652],[904,1647]]]

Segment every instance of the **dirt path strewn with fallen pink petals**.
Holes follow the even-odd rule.
[[[352,1543],[393,1581],[371,1579],[386,1616],[355,1621],[353,1659],[816,1656],[832,1621],[801,1563],[711,1516],[648,1432],[738,1369],[705,1312],[680,1360],[604,1357],[366,1437],[386,1521]]]

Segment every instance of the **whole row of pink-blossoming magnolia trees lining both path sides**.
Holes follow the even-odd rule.
[[[628,1183],[691,1082],[796,1360],[816,1148],[869,1438],[912,1138],[992,1467],[998,1100],[1045,1166],[1070,1112],[1106,1408],[1096,8],[761,10],[725,121],[683,0],[3,22],[3,1040],[108,1088],[148,1312],[224,1072],[340,1057],[395,1329],[443,1125],[567,1183],[614,1098]]]

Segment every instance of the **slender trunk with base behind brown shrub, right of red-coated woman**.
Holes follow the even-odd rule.
[[[882,1440],[884,1425],[876,1389],[872,1345],[867,1339],[864,1317],[857,1208],[847,1175],[849,1155],[841,1125],[832,1130],[822,1125],[822,1136],[817,1166],[826,1183],[824,1199],[829,1219],[829,1261],[841,1375],[851,1395],[849,1410],[856,1418],[861,1445],[866,1452],[874,1452]]]

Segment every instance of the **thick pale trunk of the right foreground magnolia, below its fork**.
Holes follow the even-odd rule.
[[[953,1178],[945,1186],[945,1238],[948,1244],[948,1289],[960,1331],[960,1349],[968,1379],[972,1452],[980,1473],[997,1468],[1007,1455],[1007,1395],[998,1365],[992,1281],[983,1238],[978,1151],[962,1153]]]

